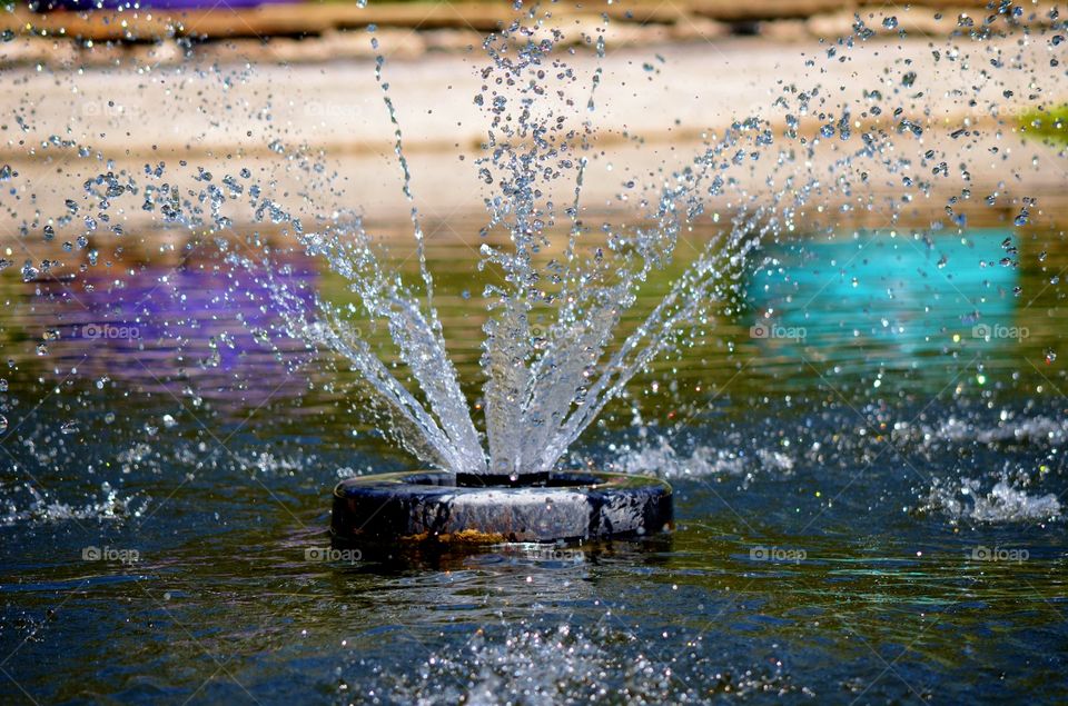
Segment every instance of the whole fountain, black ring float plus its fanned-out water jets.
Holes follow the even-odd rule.
[[[839,116],[819,112],[818,136],[810,140],[799,119],[788,112],[788,101],[780,99],[777,106],[785,112],[788,142],[797,142],[809,156],[824,142],[843,145],[844,155],[831,166],[839,175],[835,180],[824,182],[781,149],[767,179],[784,186],[755,198],[726,175],[732,168],[756,173],[754,165],[775,139],[767,120],[736,121],[708,140],[692,163],[665,176],[651,196],[642,198],[639,202],[646,211],[633,225],[593,228],[582,218],[582,195],[596,132],[590,116],[596,109],[602,74],[600,68],[594,71],[585,105],[562,90],[547,90],[544,79],[550,73],[564,86],[578,78],[557,56],[563,33],[544,23],[540,12],[530,9],[490,36],[484,44],[490,63],[481,72],[482,90],[474,98],[490,123],[478,173],[494,188],[485,201],[490,219],[481,233],[485,241],[479,267],[495,270],[501,280],[485,291],[491,316],[483,328],[485,382],[477,405],[484,414],[484,434],[472,419],[447,354],[426,236],[382,56],[375,78],[395,130],[418,281],[406,282],[384,266],[358,217],[335,218],[310,231],[294,222],[306,253],[328,262],[347,281],[354,301],[318,298],[309,306],[306,292],[294,290],[291,282],[268,278],[287,336],[347,361],[362,376],[368,404],[394,439],[436,468],[339,483],[332,519],[337,541],[571,541],[670,528],[672,494],[663,480],[590,468],[560,470],[562,457],[631,378],[678,346],[680,334],[700,321],[713,302],[736,295],[739,282],[731,274],[751,267],[746,262],[752,252],[792,230],[811,198],[818,199],[815,210],[822,212],[837,192],[840,212],[849,212],[858,190],[852,177],[860,175],[861,191],[871,172],[884,169],[890,177],[902,168],[883,159],[893,138],[922,135],[918,123],[899,117],[900,110],[892,127],[878,127],[878,95],[869,99],[876,103],[870,111],[860,110],[859,116],[876,127],[854,132],[862,123],[844,103]],[[870,30],[858,22],[858,37],[867,39]],[[587,42],[603,57],[603,32]],[[907,72],[902,86],[909,88],[914,80],[914,72]],[[818,88],[799,93],[802,116],[812,110],[810,101],[817,96]],[[932,155],[929,150],[927,158]],[[570,198],[561,199],[561,183],[572,185]],[[729,191],[739,197],[730,227],[709,238],[637,326],[619,334],[637,291],[652,272],[672,261],[680,235],[705,213],[710,198]],[[956,197],[949,202],[956,207],[947,207],[951,219],[963,222],[958,213],[963,205]],[[824,226],[828,231],[834,227],[833,219]],[[554,229],[560,238],[551,235]],[[926,257],[912,255],[918,261]],[[271,271],[269,260],[233,258]],[[769,253],[763,261],[773,260]],[[392,360],[373,350],[357,321],[388,331]],[[395,374],[398,364],[407,368],[407,380]]]

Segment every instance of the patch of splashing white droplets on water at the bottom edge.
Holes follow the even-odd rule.
[[[374,669],[374,682],[342,680],[339,696],[353,703],[436,704],[663,704],[703,703],[710,695],[812,697],[781,665],[736,672],[716,667],[700,636],[664,640],[651,653],[620,658],[611,646],[639,638],[612,617],[590,629],[528,625],[479,629],[461,654],[435,653],[414,669]],[[681,643],[681,640],[680,640]],[[655,654],[654,654],[655,653]],[[366,665],[359,665],[360,670]],[[698,686],[694,673],[712,686]],[[344,675],[344,672],[343,672]],[[427,684],[436,688],[427,688]]]

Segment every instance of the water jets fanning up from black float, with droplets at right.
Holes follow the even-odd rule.
[[[858,22],[857,37],[863,39],[863,22]],[[899,109],[892,127],[866,129],[857,139],[853,130],[860,123],[854,125],[846,102],[838,116],[819,111],[819,137],[807,139],[800,136],[794,112],[815,112],[812,103],[822,106],[827,99],[819,88],[789,87],[775,101],[785,112],[788,130],[774,155],[777,169],[768,177],[767,192],[748,192],[731,176],[732,170],[751,169],[775,147],[771,123],[750,118],[710,139],[691,165],[665,175],[642,199],[646,210],[639,225],[605,222],[595,229],[582,218],[582,192],[586,153],[595,133],[589,113],[596,108],[602,70],[596,67],[591,78],[587,115],[581,115],[565,91],[557,89],[554,96],[546,77],[565,86],[580,81],[556,57],[556,44],[563,39],[560,30],[546,30],[532,9],[484,44],[490,63],[481,71],[484,83],[475,102],[486,113],[490,130],[477,163],[481,178],[494,187],[495,195],[485,201],[490,220],[482,231],[487,241],[479,267],[500,272],[503,280],[485,291],[491,311],[481,361],[485,450],[434,307],[425,235],[414,207],[400,126],[388,83],[383,81],[382,57],[375,76],[395,130],[395,155],[403,191],[412,205],[422,284],[407,286],[384,268],[357,218],[300,233],[300,240],[309,253],[325,258],[349,282],[363,317],[384,322],[415,389],[396,377],[368,345],[354,324],[352,306],[346,309],[319,299],[317,309],[310,310],[284,284],[271,288],[289,335],[343,356],[388,416],[395,438],[424,460],[457,473],[516,475],[553,468],[635,375],[683,342],[682,332],[703,320],[710,308],[736,294],[740,282],[731,275],[748,267],[762,243],[791,231],[810,202],[822,212],[832,193],[843,200],[841,212],[848,212],[850,199],[861,201],[849,177],[860,172],[867,181],[866,162],[890,175],[908,172],[910,162],[892,156],[896,146],[923,132]],[[603,34],[591,41],[603,57]],[[833,54],[834,49],[829,50],[828,57]],[[914,72],[901,79],[906,88],[916,80]],[[788,96],[797,99],[795,108]],[[870,115],[862,112],[868,119],[881,113],[878,107]],[[831,163],[830,173],[820,178],[807,169],[807,159],[823,143],[840,145],[841,156]],[[550,196],[550,186],[570,179],[573,198],[561,208]],[[909,177],[906,182],[913,183]],[[930,185],[916,186],[929,193]],[[736,201],[731,202],[735,215],[729,227],[708,240],[632,331],[620,335],[621,320],[634,307],[637,291],[651,272],[672,260],[680,233],[705,215],[708,199],[730,193]],[[953,209],[947,209],[956,218]],[[561,222],[567,223],[566,245],[546,261],[542,253],[555,252],[556,245],[550,230]],[[488,237],[494,233],[507,245],[491,245]]]

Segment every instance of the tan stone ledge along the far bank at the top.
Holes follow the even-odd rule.
[[[627,6],[599,1],[554,7],[552,20],[566,26],[575,41],[611,22],[612,43],[710,41],[729,34],[761,34],[775,40],[832,38],[852,32],[854,13],[876,32],[906,30],[946,36],[959,31],[961,14],[986,16],[981,0],[926,0],[909,10],[872,2],[830,0],[679,0]],[[1029,7],[1025,19],[1048,22],[1052,3]],[[893,14],[899,29],[887,30],[882,18]],[[108,63],[122,57],[176,62],[196,48],[201,59],[251,61],[322,61],[369,56],[366,36],[349,34],[369,24],[379,32],[403,36],[402,56],[426,51],[467,50],[490,31],[515,19],[506,2],[385,2],[359,8],[352,3],[268,4],[257,8],[216,7],[205,10],[96,10],[31,12],[17,8],[0,14],[0,66],[31,63]],[[577,26],[577,27],[576,27]],[[577,31],[574,31],[577,30]],[[300,41],[297,41],[300,40]],[[178,43],[181,43],[179,48]],[[233,42],[233,43],[231,43]],[[101,47],[101,44],[109,44]],[[146,48],[156,44],[157,48]]]

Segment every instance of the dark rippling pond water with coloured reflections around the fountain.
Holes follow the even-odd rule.
[[[477,404],[494,275],[449,230],[428,261]],[[414,461],[354,420],[352,374],[240,332],[271,314],[211,248],[77,289],[9,268],[0,700],[1062,703],[1059,242],[773,246],[565,461],[669,477],[673,533],[394,560],[329,550],[329,491]]]

